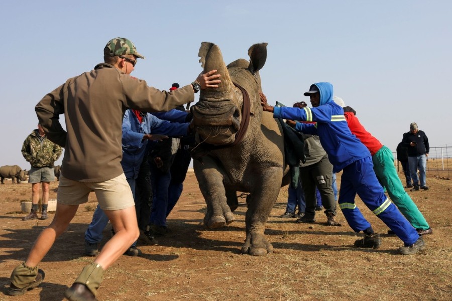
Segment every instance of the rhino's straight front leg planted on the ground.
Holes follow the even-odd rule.
[[[273,252],[273,246],[265,238],[264,232],[268,216],[278,198],[281,180],[282,170],[269,168],[262,175],[261,182],[254,185],[245,220],[247,238],[242,246],[243,254],[262,256]]]

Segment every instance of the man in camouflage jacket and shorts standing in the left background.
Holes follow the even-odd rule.
[[[47,219],[50,182],[55,180],[54,163],[61,155],[63,148],[49,139],[41,125],[27,136],[22,145],[22,155],[30,162],[28,183],[32,184],[32,210],[22,220],[38,218],[39,189],[42,183],[42,213],[41,219]]]

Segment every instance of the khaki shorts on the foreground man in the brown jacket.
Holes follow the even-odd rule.
[[[88,202],[91,191],[96,194],[102,210],[120,210],[135,206],[132,191],[124,174],[98,183],[73,181],[61,175],[57,202],[64,205],[80,205]]]

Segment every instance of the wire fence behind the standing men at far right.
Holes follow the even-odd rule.
[[[398,172],[402,172],[402,166],[397,160],[396,152],[392,152],[394,164]],[[427,176],[440,179],[450,179],[452,173],[452,146],[430,147],[427,157]]]

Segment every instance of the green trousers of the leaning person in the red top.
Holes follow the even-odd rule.
[[[383,145],[377,154],[372,156],[372,162],[378,180],[383,184],[392,202],[399,208],[403,216],[416,229],[427,230],[430,228],[416,204],[403,189],[402,181],[400,181],[394,167],[394,157],[391,150]]]

